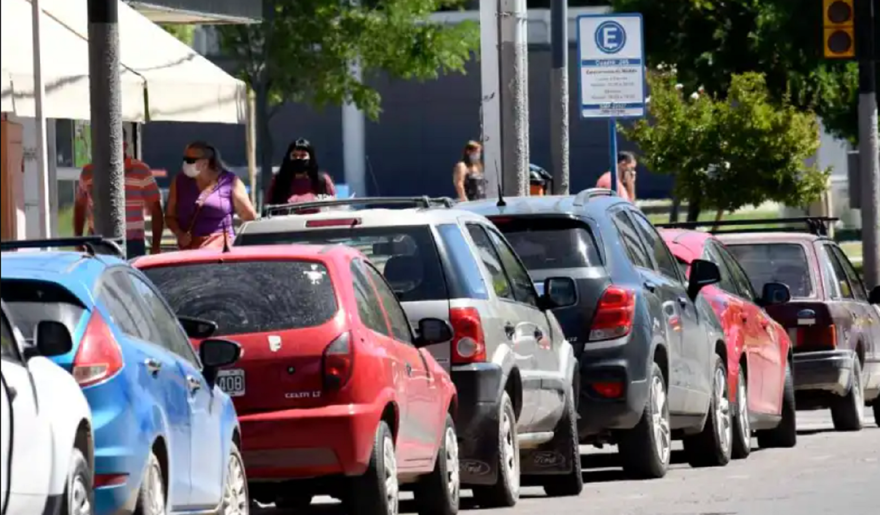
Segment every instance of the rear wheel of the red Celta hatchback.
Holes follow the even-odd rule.
[[[391,429],[379,422],[367,471],[351,480],[348,511],[351,515],[397,515],[400,483],[397,477],[397,453]]]

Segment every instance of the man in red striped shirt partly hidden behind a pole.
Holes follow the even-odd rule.
[[[153,172],[143,161],[128,156],[128,144],[123,144],[125,153],[125,229],[126,252],[128,258],[147,253],[146,222],[144,211],[152,217],[153,240],[151,250],[158,254],[165,230],[165,214],[162,212],[162,195],[159,193]],[[92,199],[92,163],[86,164],[79,175],[77,199],[73,210],[73,233],[83,236],[85,222],[88,221],[89,234],[95,233],[94,200]]]

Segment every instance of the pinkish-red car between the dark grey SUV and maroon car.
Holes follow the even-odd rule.
[[[721,282],[703,288],[702,294],[721,321],[727,340],[729,391],[736,392],[732,456],[749,455],[752,432],[761,447],[795,446],[791,340],[762,308],[788,301],[788,287],[767,283],[756,294],[743,268],[714,236],[681,229],[661,229],[660,233],[685,273],[697,258],[715,263],[721,271]]]

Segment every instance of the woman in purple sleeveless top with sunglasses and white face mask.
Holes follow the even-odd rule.
[[[245,184],[225,170],[217,150],[204,141],[187,146],[182,173],[174,178],[165,207],[165,225],[180,250],[219,247],[232,241],[233,215],[256,218]]]

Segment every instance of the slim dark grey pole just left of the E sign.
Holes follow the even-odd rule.
[[[553,192],[568,195],[568,1],[550,4],[550,152]]]

